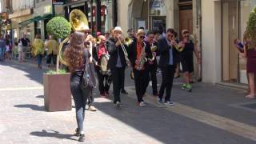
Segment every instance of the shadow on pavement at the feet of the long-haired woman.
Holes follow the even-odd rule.
[[[50,137],[50,138],[59,138],[59,139],[70,139],[77,140],[71,137],[74,137],[73,134],[60,134],[56,130],[42,130],[42,131],[34,131],[30,133],[31,135],[38,137]]]

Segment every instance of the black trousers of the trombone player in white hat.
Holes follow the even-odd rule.
[[[125,68],[114,67],[111,69],[113,80],[114,103],[121,102],[120,92],[122,89],[122,82],[125,75]]]

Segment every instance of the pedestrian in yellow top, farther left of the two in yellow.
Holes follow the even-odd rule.
[[[36,34],[34,42],[32,44],[32,51],[34,51],[34,56],[38,59],[38,69],[42,69],[42,57],[45,53],[44,43],[41,39],[40,34]]]

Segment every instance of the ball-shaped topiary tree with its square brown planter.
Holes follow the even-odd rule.
[[[70,22],[63,17],[54,17],[46,24],[48,34],[60,39],[69,37]],[[59,54],[56,71],[49,70],[43,74],[44,103],[47,111],[71,110],[70,73],[59,70]]]

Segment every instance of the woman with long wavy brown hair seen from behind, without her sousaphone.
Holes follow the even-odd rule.
[[[88,50],[88,49],[87,49]],[[75,130],[76,135],[79,136],[78,141],[83,142],[85,133],[83,131],[83,122],[85,119],[86,100],[92,94],[93,87],[82,86],[82,75],[84,73],[84,65],[86,57],[90,57],[90,53],[86,50],[84,45],[84,34],[82,32],[74,32],[70,36],[70,43],[68,44],[64,58],[68,62],[70,77],[70,89],[74,98],[74,105],[76,110],[76,119],[78,128]]]

